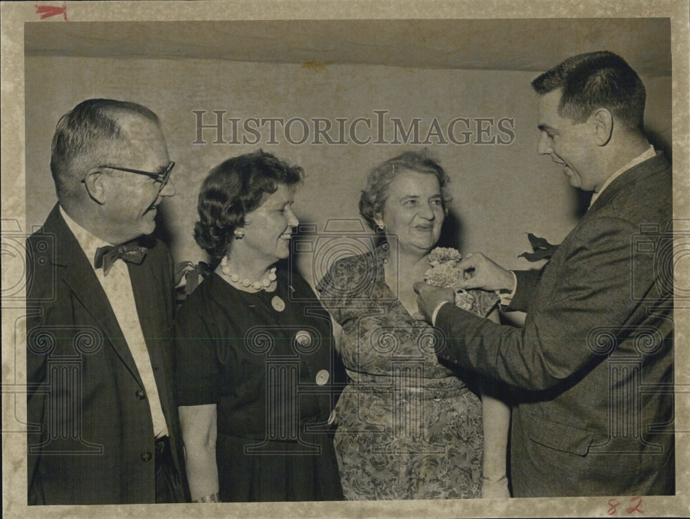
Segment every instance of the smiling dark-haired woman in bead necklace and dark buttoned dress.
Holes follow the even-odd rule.
[[[192,500],[342,499],[331,413],[342,373],[328,313],[280,268],[302,168],[259,150],[210,171],[195,239],[216,267],[175,322]]]

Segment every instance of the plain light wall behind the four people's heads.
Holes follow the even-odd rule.
[[[555,63],[554,63],[555,64]],[[250,63],[214,59],[132,59],[107,57],[27,56],[26,70],[26,222],[42,224],[56,202],[50,176],[50,141],[63,113],[83,99],[112,97],[144,104],[164,128],[170,157],[177,165],[172,180],[177,195],[159,212],[159,231],[175,261],[206,259],[192,237],[196,199],[208,170],[228,157],[259,147],[306,172],[295,197],[302,223],[322,231],[332,218],[357,218],[364,175],[375,164],[404,150],[429,148],[451,176],[449,242],[460,251],[482,251],[507,268],[534,266],[517,255],[530,251],[526,233],[558,243],[578,219],[578,190],[569,186],[562,168],[537,154],[536,95],[529,83],[535,72],[449,70],[377,65]],[[647,87],[647,130],[658,147],[670,150],[671,77],[642,77]],[[514,119],[509,145],[402,144],[267,145],[267,126],[256,146],[193,144],[193,110],[212,110],[225,117],[368,117],[388,110],[408,126],[421,117],[422,135],[435,117],[442,128],[455,117]],[[230,137],[226,124],[226,140]],[[462,126],[459,129],[464,129]],[[374,135],[375,130],[360,135]],[[388,126],[392,137],[392,126]],[[495,129],[493,130],[495,133]],[[299,137],[300,131],[295,126]],[[506,135],[502,135],[503,138]],[[475,137],[473,137],[474,139]],[[300,255],[299,270],[314,282],[311,259]],[[318,269],[317,269],[318,277]]]

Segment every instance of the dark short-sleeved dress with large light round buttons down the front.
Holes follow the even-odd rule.
[[[247,293],[213,273],[182,304],[175,333],[178,404],[217,404],[221,500],[342,499],[328,423],[342,368],[302,277],[278,271],[275,292]]]

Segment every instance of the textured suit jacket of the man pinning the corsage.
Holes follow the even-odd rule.
[[[604,190],[542,271],[516,273],[522,329],[437,313],[442,357],[520,388],[514,496],[673,493],[671,217],[659,153]]]

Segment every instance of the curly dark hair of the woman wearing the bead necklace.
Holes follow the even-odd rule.
[[[304,170],[290,166],[263,150],[221,162],[204,179],[199,190],[199,222],[194,239],[215,258],[223,257],[233,239],[233,231],[244,226],[244,217],[259,207],[279,184],[295,186]]]

